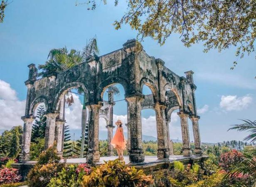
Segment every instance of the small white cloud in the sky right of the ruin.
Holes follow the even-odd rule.
[[[219,106],[226,111],[241,111],[249,106],[252,97],[249,95],[237,96],[222,96]]]

